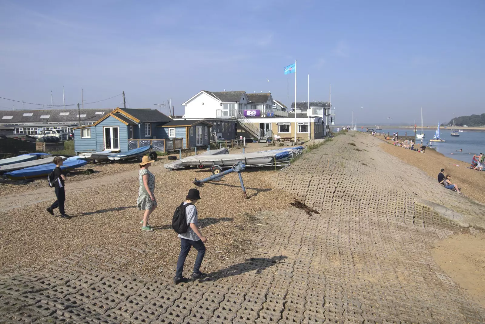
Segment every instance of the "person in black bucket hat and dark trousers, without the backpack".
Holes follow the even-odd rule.
[[[178,255],[177,272],[174,278],[175,284],[187,281],[187,278],[183,277],[183,265],[192,246],[197,250],[197,258],[195,258],[192,280],[203,279],[207,276],[200,272],[200,265],[206,254],[206,246],[204,243],[207,243],[207,238],[200,233],[197,208],[194,205],[195,202],[200,199],[200,193],[197,189],[190,189],[185,199],[187,200],[185,200],[183,205],[187,206],[185,207],[185,217],[187,218],[189,229],[187,229],[187,232],[184,234],[178,234],[178,237],[180,238],[180,254]]]

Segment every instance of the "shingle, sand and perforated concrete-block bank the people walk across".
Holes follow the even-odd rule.
[[[66,181],[70,220],[44,211],[49,188],[12,188],[0,198],[0,312],[12,322],[483,323],[483,175],[430,151],[350,131],[283,170],[243,172],[249,199],[236,175],[205,184],[210,277],[179,285],[170,220],[208,169],[150,167],[154,232],[139,227],[136,163]],[[463,195],[437,184],[442,167]]]

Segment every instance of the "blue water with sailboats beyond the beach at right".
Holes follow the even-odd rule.
[[[359,129],[362,130],[362,129]],[[429,140],[433,139],[433,135],[435,134],[436,129],[425,129],[424,130],[424,139],[423,145],[426,145]],[[365,127],[363,129],[365,131]],[[380,130],[382,133],[390,133],[392,136],[393,132],[398,132],[399,135],[404,136],[407,132],[408,136],[414,135],[413,129],[383,129]],[[419,134],[420,130],[416,133]],[[377,130],[379,133],[379,130]],[[436,148],[436,151],[442,153],[444,156],[449,158],[453,158],[455,160],[460,160],[464,162],[471,162],[471,158],[473,154],[479,154],[481,152],[485,152],[485,131],[473,131],[473,130],[464,130],[460,132],[460,136],[453,137],[450,136],[451,128],[439,128],[440,137],[445,142],[431,142],[433,143],[433,148]],[[417,139],[417,143],[420,143],[421,140]],[[463,152],[459,152],[460,148]]]

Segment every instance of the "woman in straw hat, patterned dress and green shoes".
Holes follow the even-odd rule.
[[[138,173],[138,181],[140,188],[138,189],[138,199],[136,204],[140,211],[145,211],[142,224],[142,230],[153,231],[150,225],[148,225],[148,217],[157,208],[157,199],[153,191],[155,190],[155,176],[148,171],[153,160],[149,156],[144,156],[140,163],[140,172]]]

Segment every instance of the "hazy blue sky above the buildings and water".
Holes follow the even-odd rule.
[[[338,124],[419,124],[422,107],[433,125],[484,113],[483,16],[483,0],[0,0],[0,97],[61,105],[64,86],[66,104],[83,89],[116,96],[85,108],[115,108],[125,91],[127,108],[172,98],[183,114],[200,90],[245,90],[289,106],[297,60],[297,101],[308,74],[310,101],[331,83]],[[14,108],[42,106],[0,99]]]

